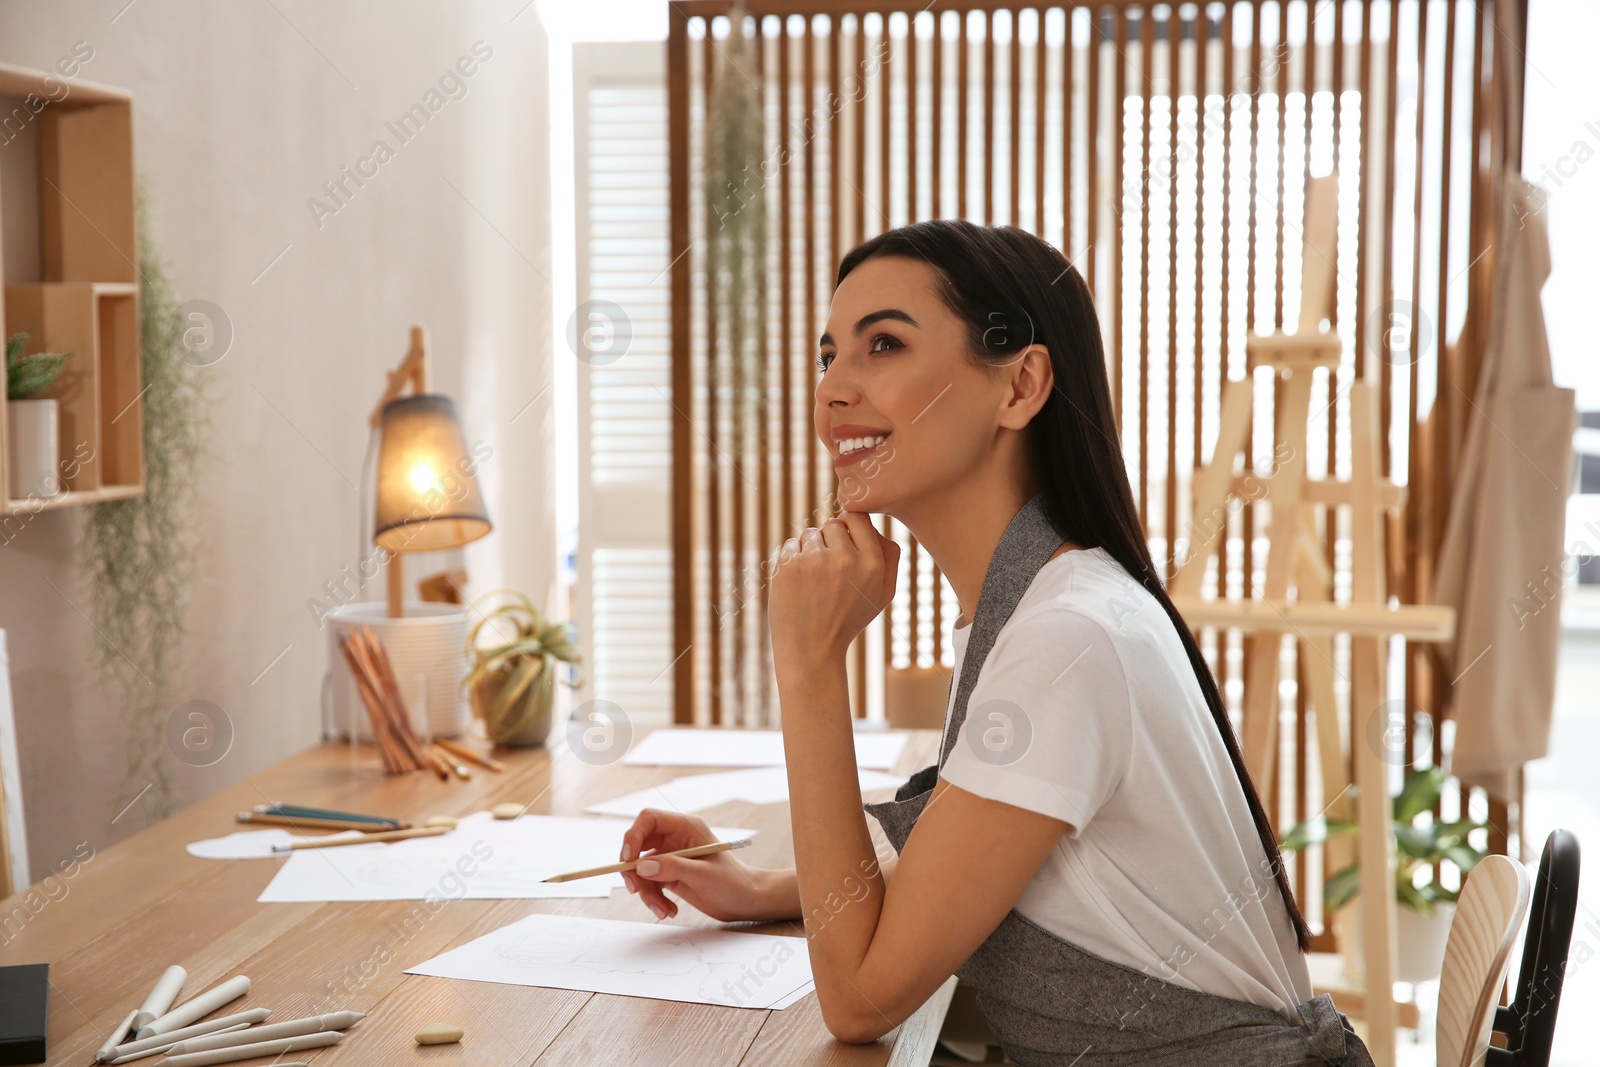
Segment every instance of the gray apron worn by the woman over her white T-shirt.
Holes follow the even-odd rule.
[[[864,805],[894,851],[910,837],[966,718],[978,672],[1022,593],[1062,537],[1035,496],[1006,526],[978,598],[955,705],[939,761],[894,800]],[[1243,1000],[1202,993],[1112,963],[1058,937],[1014,909],[955,971],[1006,1054],[1024,1067],[1371,1067],[1360,1038],[1326,993],[1299,1005],[1299,1025]]]

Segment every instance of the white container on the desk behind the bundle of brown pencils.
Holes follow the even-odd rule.
[[[462,686],[470,629],[467,613],[461,605],[427,601],[408,601],[405,616],[398,619],[389,617],[386,603],[344,605],[328,613],[333,728],[346,737],[373,739],[366,705],[339,651],[339,633],[358,625],[371,627],[389,653],[413,728],[435,737],[466,733],[472,725],[472,705]]]

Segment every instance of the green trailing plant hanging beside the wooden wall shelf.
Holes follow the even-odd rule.
[[[174,707],[195,560],[195,461],[208,429],[202,379],[184,358],[178,309],[141,190],[144,496],[93,506],[80,553],[90,573],[101,680],[125,710],[125,787],[130,793],[149,787],[152,821],[173,808],[166,717]]]

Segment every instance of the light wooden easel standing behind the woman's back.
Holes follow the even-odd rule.
[[[1366,1019],[1373,1061],[1378,1067],[1394,1067],[1398,1005],[1390,992],[1395,976],[1395,897],[1387,889],[1394,885],[1390,800],[1378,749],[1371,742],[1355,744],[1346,753],[1334,705],[1333,635],[1350,635],[1350,717],[1360,737],[1370,736],[1368,721],[1382,712],[1387,638],[1398,635],[1419,641],[1446,641],[1454,635],[1456,619],[1451,608],[1389,606],[1384,590],[1382,522],[1386,512],[1403,506],[1405,488],[1382,478],[1378,469],[1378,406],[1371,382],[1358,379],[1350,386],[1350,478],[1306,477],[1312,378],[1318,368],[1326,370],[1331,378],[1342,350],[1338,334],[1323,328],[1334,301],[1338,190],[1336,173],[1306,182],[1299,323],[1294,333],[1251,338],[1246,346],[1246,378],[1222,386],[1221,427],[1211,464],[1197,470],[1194,478],[1189,555],[1173,576],[1170,590],[1189,625],[1235,629],[1246,635],[1240,745],[1245,765],[1264,797],[1274,795],[1283,635],[1293,633],[1299,641],[1299,657],[1306,664],[1309,681],[1307,704],[1317,720],[1326,816],[1349,819],[1347,785],[1360,785],[1355,817],[1360,825],[1357,848],[1363,891],[1350,905],[1360,909],[1365,955],[1360,1014]],[[1250,456],[1253,378],[1261,368],[1269,368],[1280,379],[1274,437],[1278,450],[1286,448],[1275,470],[1266,477],[1253,474]],[[1245,458],[1245,467],[1235,475],[1234,461],[1238,456]],[[1259,600],[1248,593],[1242,600],[1203,595],[1211,555],[1227,533],[1230,499],[1270,502],[1266,589]],[[1333,598],[1334,574],[1315,537],[1317,506],[1330,509],[1330,523],[1334,522],[1333,509],[1350,510],[1350,600],[1346,603]],[[1347,838],[1330,841],[1328,869],[1349,864],[1350,848]],[[1374,886],[1387,891],[1374,891]],[[1349,960],[1350,945],[1342,949]]]

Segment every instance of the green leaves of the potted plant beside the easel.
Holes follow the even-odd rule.
[[[1456,822],[1438,822],[1424,814],[1438,805],[1440,795],[1451,777],[1443,768],[1430,766],[1408,771],[1400,792],[1394,798],[1394,835],[1395,835],[1395,899],[1406,907],[1432,915],[1434,905],[1443,901],[1454,901],[1456,891],[1446,889],[1432,878],[1421,886],[1416,885],[1416,873],[1422,869],[1448,859],[1466,875],[1478,861],[1483,849],[1467,841],[1467,835],[1482,830],[1488,824],[1472,819]],[[1355,795],[1355,789],[1350,789]],[[1347,837],[1360,832],[1360,825],[1342,819],[1325,819],[1322,816],[1307,819],[1290,829],[1278,841],[1285,853],[1320,845],[1323,841]],[[1328,907],[1338,910],[1350,902],[1362,888],[1362,875],[1357,864],[1341,867],[1328,875],[1322,894]]]

